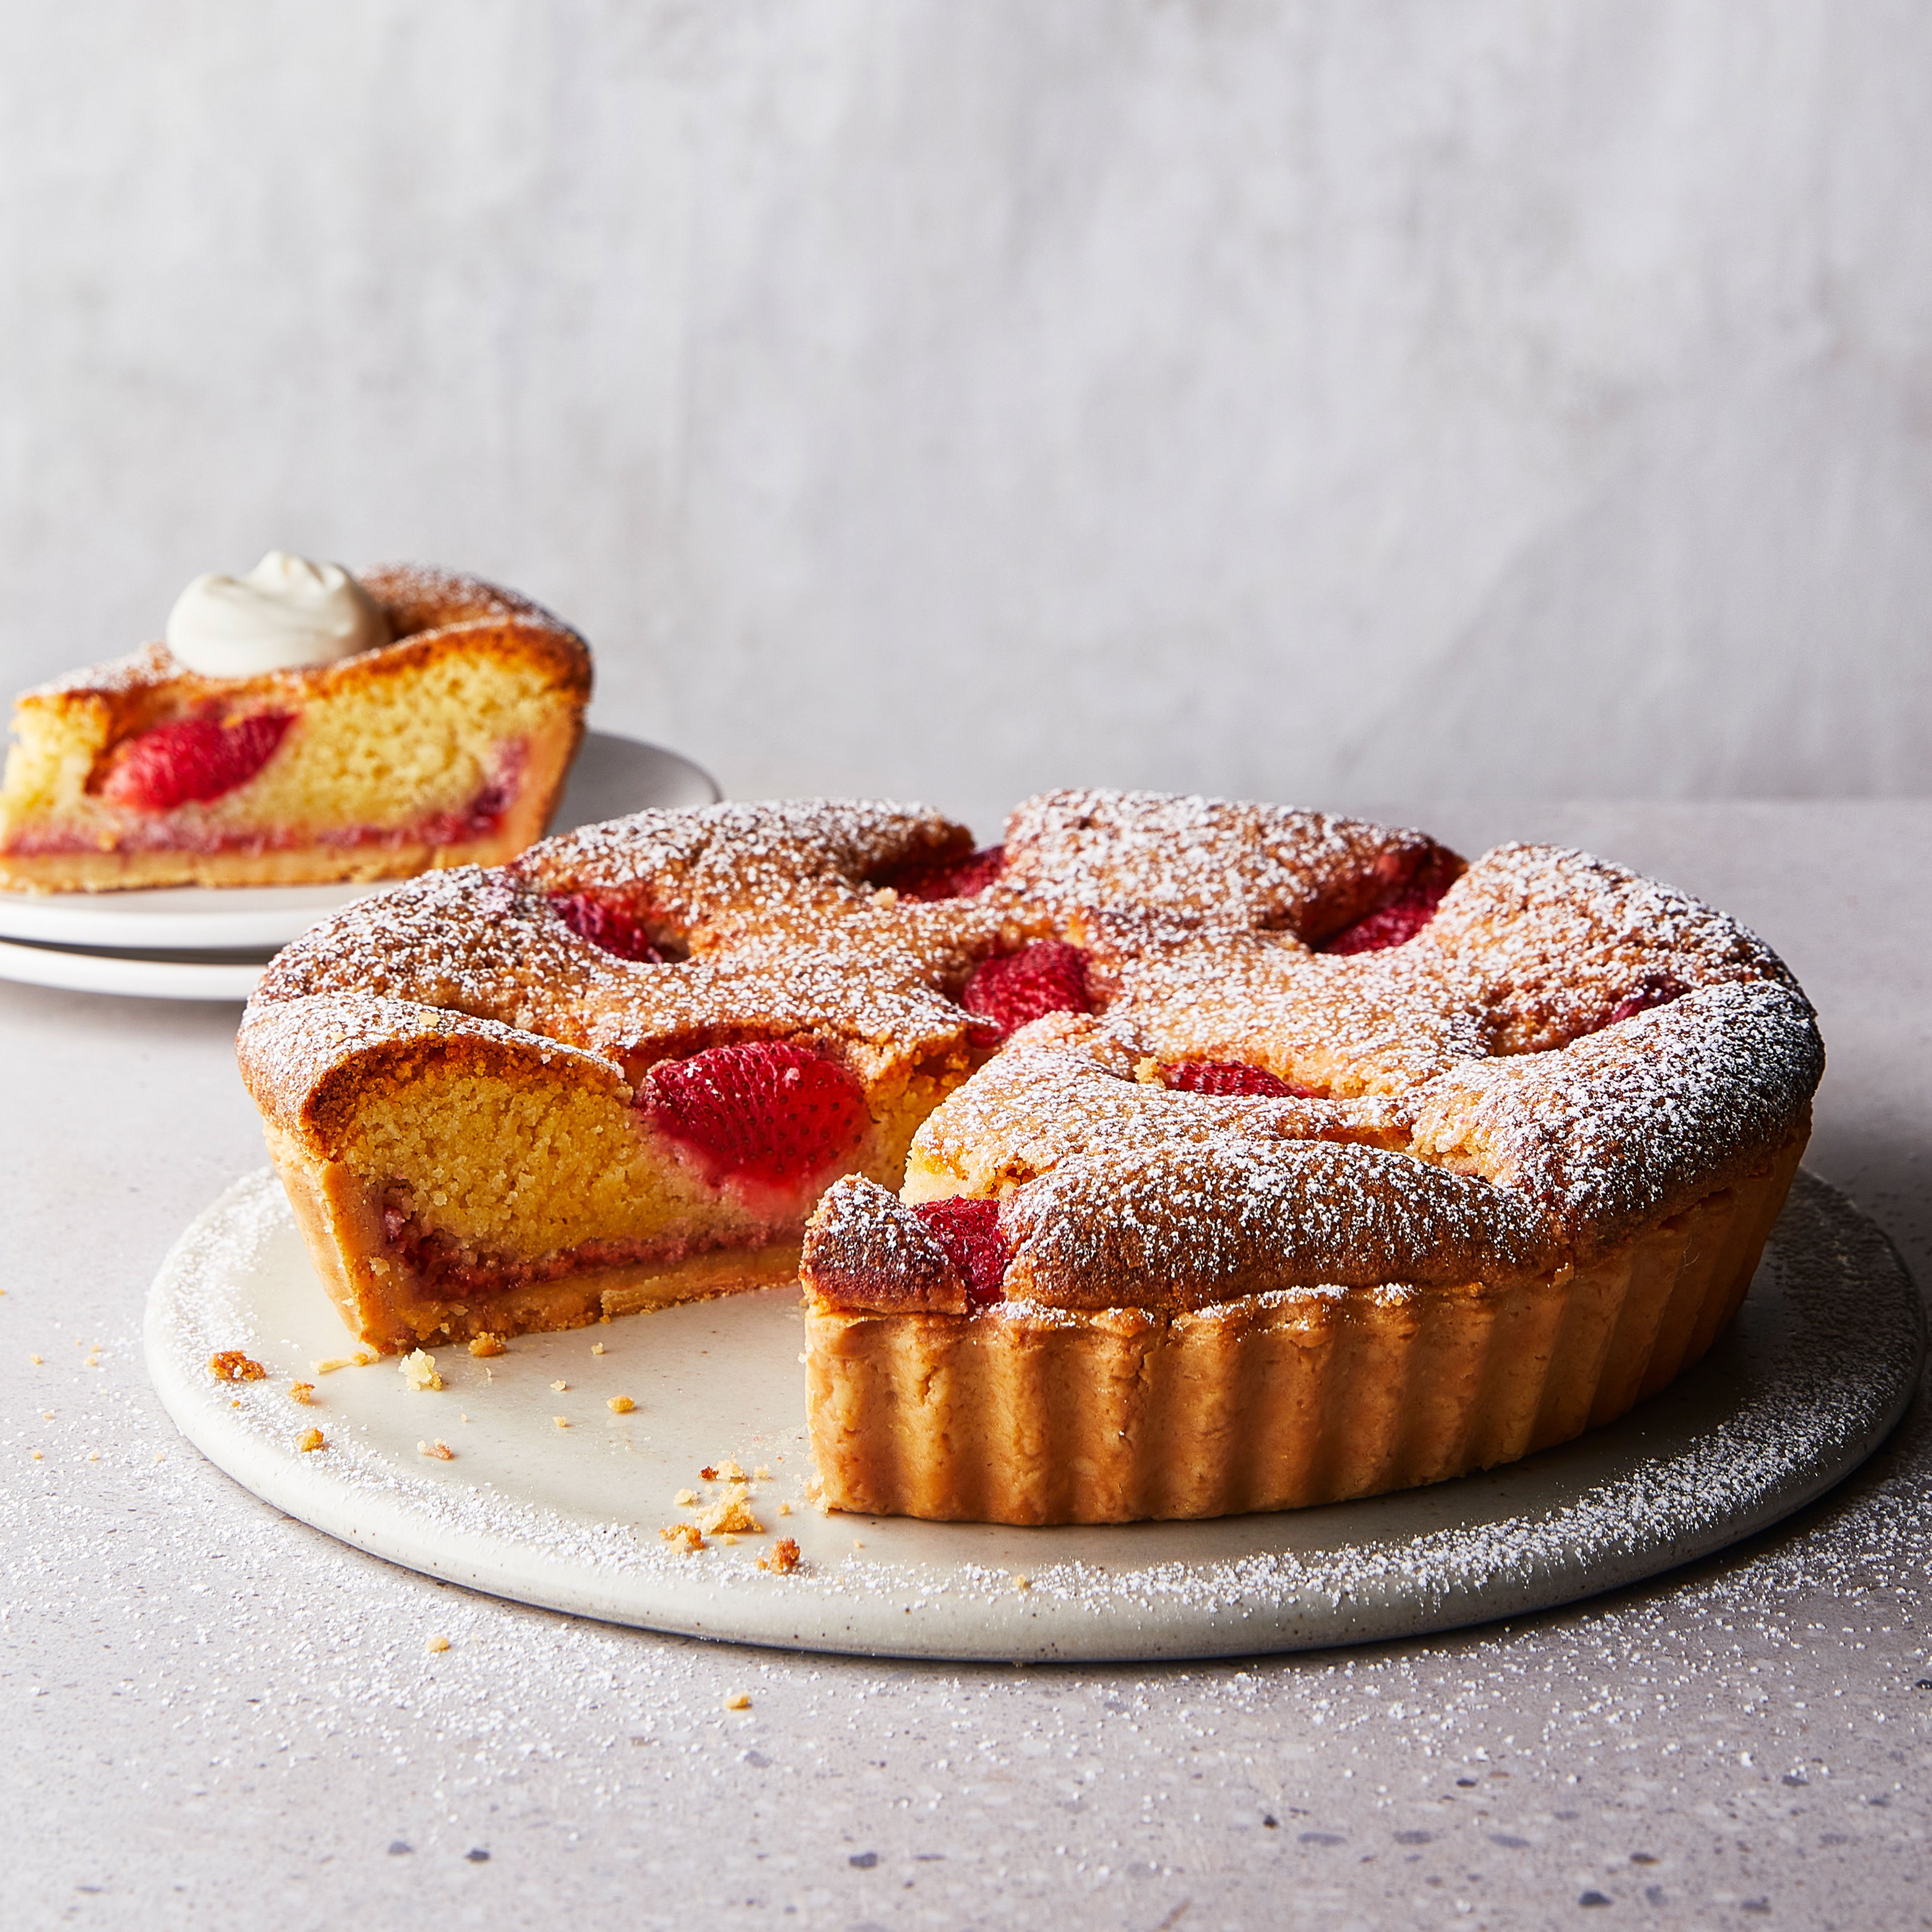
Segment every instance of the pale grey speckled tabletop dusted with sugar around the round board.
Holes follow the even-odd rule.
[[[1810,1167],[1926,1279],[1932,802],[1401,817],[1764,933],[1832,1059]],[[149,1391],[147,1283],[263,1161],[234,1022],[0,985],[6,1926],[1932,1924],[1922,1405],[1737,1549],[1451,1636],[1012,1669],[572,1621],[282,1517]]]

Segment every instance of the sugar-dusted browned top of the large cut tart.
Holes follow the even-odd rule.
[[[808,1287],[848,1308],[1555,1269],[1804,1130],[1824,1055],[1781,962],[1586,854],[1464,867],[1412,831],[1144,792],[1045,794],[970,846],[918,808],[728,804],[415,879],[276,958],[243,1070],[313,1134],[423,1051],[630,1088],[753,1039],[867,1092],[978,1068],[906,1192],[985,1206],[856,1179],[821,1202]],[[1003,968],[1005,1007],[976,991]],[[1088,1010],[1026,1024],[1047,981]]]

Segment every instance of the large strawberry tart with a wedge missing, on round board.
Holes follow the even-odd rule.
[[[802,1254],[827,1501],[999,1522],[1621,1414],[1737,1310],[1824,1065],[1758,939],[1617,866],[1134,792],[989,852],[817,802],[551,838],[313,929],[240,1057],[363,1341]]]

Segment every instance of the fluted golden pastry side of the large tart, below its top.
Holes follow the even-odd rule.
[[[1132,1522],[1302,1509],[1513,1463],[1615,1420],[1710,1349],[1804,1138],[1586,1267],[1499,1285],[1279,1291],[1177,1316],[811,1304],[825,1501]]]

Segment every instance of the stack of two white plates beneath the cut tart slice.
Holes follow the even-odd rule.
[[[711,775],[676,752],[587,732],[554,829],[647,806],[709,806],[717,796]],[[394,883],[0,893],[0,980],[149,999],[247,999],[267,952],[325,914]],[[149,956],[156,952],[178,956]],[[220,958],[224,952],[242,956]]]

